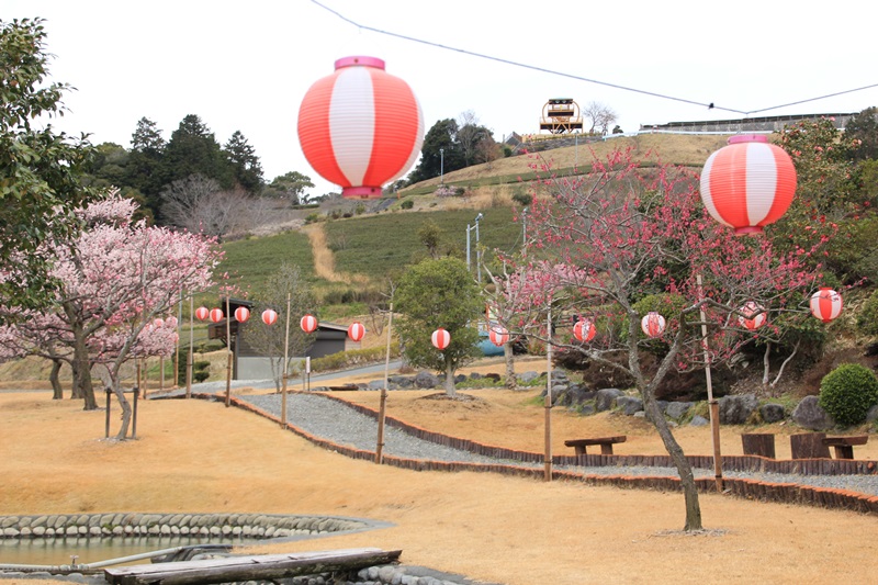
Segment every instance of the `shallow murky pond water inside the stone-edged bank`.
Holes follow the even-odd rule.
[[[222,537],[126,537],[126,538],[34,538],[0,539],[0,565],[38,564],[66,565],[71,555],[77,555],[77,564],[97,563],[132,554],[153,552],[191,544],[233,544],[247,545],[256,541],[241,538]],[[149,563],[132,561],[125,564]]]

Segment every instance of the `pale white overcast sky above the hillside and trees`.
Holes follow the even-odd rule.
[[[878,83],[868,1],[320,2],[362,26],[742,112]],[[196,114],[221,144],[243,132],[266,180],[297,170],[315,195],[337,189],[302,155],[299,105],[350,55],[380,57],[406,80],[426,130],[472,110],[497,140],[536,133],[550,98],[605,103],[626,132],[742,117],[365,31],[311,0],[0,0],[3,21],[34,16],[46,19],[52,79],[77,88],[61,130],[130,148],[140,117],[168,139]],[[878,88],[752,115],[870,105]]]

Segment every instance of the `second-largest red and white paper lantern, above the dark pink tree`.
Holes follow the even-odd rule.
[[[763,135],[732,136],[707,159],[701,201],[736,235],[761,234],[787,211],[796,192],[796,168],[779,146]]]

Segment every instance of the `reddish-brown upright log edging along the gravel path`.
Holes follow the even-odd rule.
[[[212,394],[193,394],[194,397],[202,400],[216,400]],[[247,403],[240,398],[232,397],[232,404],[270,420],[280,424],[280,418]],[[373,451],[365,451],[362,449],[354,449],[334,443],[333,441],[322,439],[313,436],[304,430],[286,424],[288,430],[295,435],[323,447],[336,451],[346,457],[360,460],[374,460],[375,453]],[[423,437],[421,437],[423,438]],[[473,441],[469,441],[471,445]],[[513,451],[513,450],[510,450]],[[587,454],[587,455],[556,455],[553,462],[562,465],[579,465],[582,460],[585,459],[587,466],[619,466],[619,475],[597,475],[585,474],[574,471],[553,470],[552,477],[554,480],[578,481],[585,482],[589,485],[601,485],[622,488],[638,488],[638,490],[655,490],[661,492],[679,492],[680,481],[675,476],[644,476],[644,475],[626,475],[623,473],[624,465],[638,466],[663,466],[673,468],[669,455],[601,455],[601,454]],[[709,455],[687,455],[693,466],[700,466],[712,469],[712,457]],[[730,460],[742,460],[742,465],[747,465],[740,471],[774,471],[769,470],[773,465],[773,460],[767,460],[758,455],[733,455]],[[752,461],[755,460],[755,461]],[[542,461],[542,459],[540,459]],[[798,460],[798,461],[776,461],[780,463],[783,469],[793,469],[796,471],[777,471],[778,473],[800,473],[808,474],[838,474],[837,466],[834,463],[846,463],[851,460]],[[855,460],[854,460],[855,461]],[[855,461],[856,462],[856,461]],[[725,458],[723,458],[723,466]],[[865,469],[874,470],[874,462],[859,461],[864,463]],[[503,463],[468,463],[462,461],[430,461],[420,459],[404,459],[396,457],[384,457],[384,464],[407,469],[412,471],[473,471],[473,472],[488,472],[499,473],[503,475],[530,477],[541,480],[544,476],[544,470],[537,468],[524,468],[517,465],[509,465]],[[843,469],[856,469],[856,466],[845,466]],[[833,473],[834,472],[834,473]],[[870,471],[870,473],[875,473]],[[700,493],[716,493],[717,484],[713,477],[696,477],[696,487]],[[746,499],[754,499],[759,502],[774,502],[786,504],[809,505],[823,508],[845,509],[859,511],[864,514],[878,514],[878,496],[870,496],[868,494],[860,494],[849,490],[835,490],[828,487],[817,487],[810,485],[791,484],[791,483],[772,483],[758,480],[751,480],[745,477],[725,477],[723,479],[723,493],[743,497]]]

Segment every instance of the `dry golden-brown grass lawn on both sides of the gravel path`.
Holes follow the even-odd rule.
[[[542,408],[529,401],[536,391],[471,393],[485,402],[473,407],[394,392],[389,408],[393,416],[450,435],[541,449]],[[339,395],[371,404],[378,393]],[[678,494],[379,466],[318,449],[251,414],[201,401],[142,403],[138,440],[104,441],[102,412],[87,413],[78,403],[48,396],[0,394],[0,514],[263,511],[373,518],[395,526],[260,550],[402,549],[406,563],[509,585],[874,582],[873,544],[864,538],[875,531],[870,516],[705,495],[705,524],[713,531],[685,536],[676,531],[684,516]],[[630,419],[559,410],[553,420],[556,441],[612,431],[630,437],[619,452],[660,449],[654,436]],[[734,452],[740,440],[725,431],[723,440]],[[703,429],[678,436],[693,452],[709,445]]]

